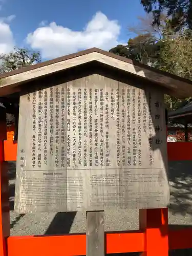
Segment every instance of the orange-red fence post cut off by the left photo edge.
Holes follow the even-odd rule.
[[[7,238],[10,236],[9,181],[4,161],[4,140],[7,139],[6,113],[1,110],[0,120],[0,255],[8,256]]]

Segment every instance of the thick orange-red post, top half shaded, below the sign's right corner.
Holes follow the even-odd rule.
[[[168,256],[168,209],[140,209],[140,229],[144,232],[142,256]]]

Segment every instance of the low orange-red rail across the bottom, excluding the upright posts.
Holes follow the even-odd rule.
[[[169,250],[192,248],[191,237],[192,229],[169,230]],[[86,255],[86,235],[9,237],[8,251],[9,256]],[[141,251],[144,251],[144,233],[106,233],[106,253]]]

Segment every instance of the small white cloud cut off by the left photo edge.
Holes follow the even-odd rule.
[[[0,54],[13,50],[14,38],[10,25],[0,19]]]

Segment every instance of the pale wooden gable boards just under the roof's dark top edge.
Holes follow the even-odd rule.
[[[59,61],[48,66],[42,66],[33,70],[28,70],[26,72],[5,77],[3,78],[3,82],[0,86],[0,95],[3,96],[12,93],[11,90],[14,91],[15,86],[17,87],[19,83],[26,82],[30,79],[38,78],[43,75],[54,74],[55,72],[73,68],[83,63],[91,62],[94,60],[109,65],[113,68],[118,68],[122,71],[137,75],[138,77],[147,78],[152,82],[158,83],[165,88],[169,88],[171,91],[174,92],[174,94],[178,93],[178,96],[180,97],[187,97],[188,95],[191,95],[191,84],[185,81],[180,81],[173,77],[164,75],[163,73],[155,72],[154,70],[148,69],[147,67],[138,67],[136,65],[133,65],[133,63],[116,59],[115,56],[113,58],[99,52],[91,52],[82,56],[76,56],[74,58]],[[7,86],[10,87],[10,91],[6,91],[7,88],[5,90],[5,87]]]

